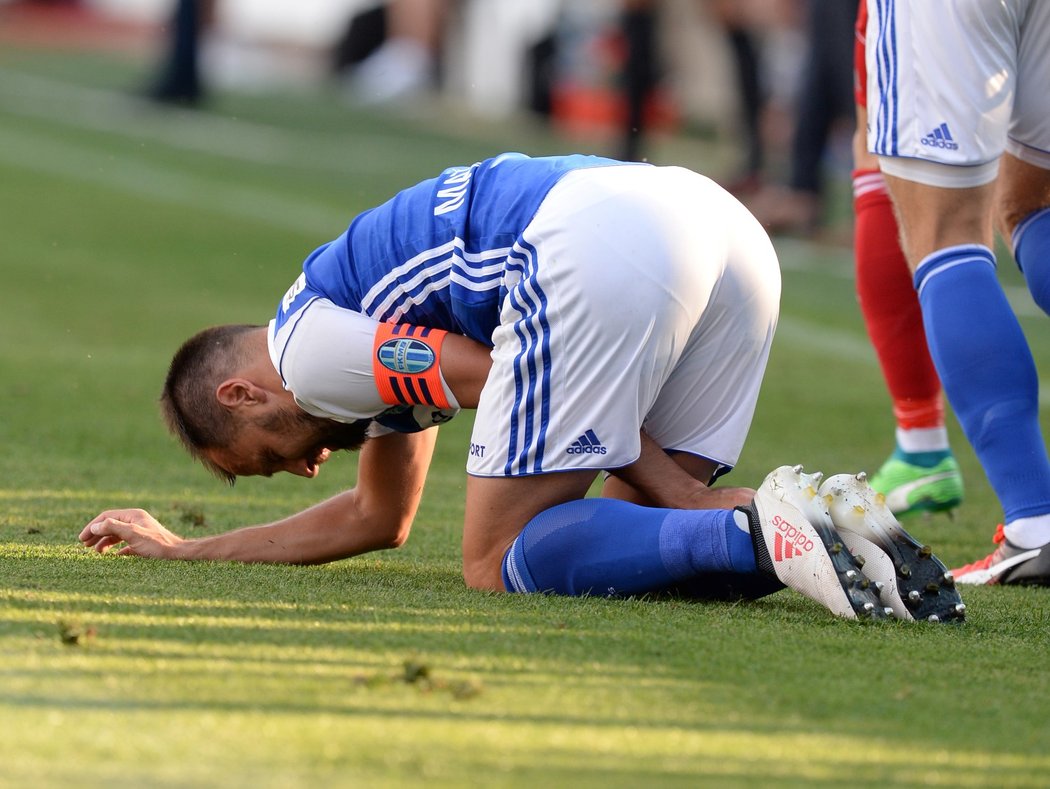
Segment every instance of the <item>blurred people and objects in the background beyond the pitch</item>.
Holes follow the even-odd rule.
[[[93,51],[129,66],[111,87],[130,98],[220,113],[231,94],[323,91],[348,115],[484,124],[507,149],[542,126],[560,150],[705,171],[774,232],[847,241],[855,12],[855,0],[0,0],[0,65]]]

